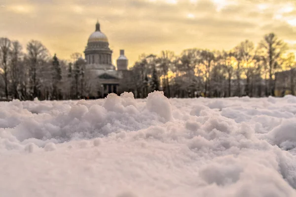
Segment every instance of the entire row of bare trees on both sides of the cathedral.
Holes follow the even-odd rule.
[[[123,75],[120,91],[145,98],[154,90],[166,97],[273,96],[275,72],[290,70],[294,95],[295,56],[274,33],[255,45],[245,40],[228,51],[186,49],[181,55],[162,51],[141,55]],[[0,97],[10,99],[81,99],[89,96],[91,82],[85,77],[85,60],[79,53],[71,60],[50,56],[37,40],[26,45],[0,38]]]

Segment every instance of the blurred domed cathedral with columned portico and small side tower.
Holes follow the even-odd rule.
[[[105,98],[110,93],[120,94],[118,86],[128,72],[128,59],[124,56],[124,50],[120,50],[116,61],[117,69],[112,64],[112,50],[107,36],[101,32],[99,22],[96,24],[96,31],[88,38],[84,55],[86,77],[91,83],[91,97]]]

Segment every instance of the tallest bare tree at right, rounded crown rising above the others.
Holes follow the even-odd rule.
[[[266,67],[268,70],[268,95],[273,95],[274,85],[273,77],[277,68],[280,67],[278,63],[281,55],[287,50],[287,45],[280,40],[274,33],[264,35],[264,39],[259,43],[259,48],[262,52],[262,56],[265,59]]]

